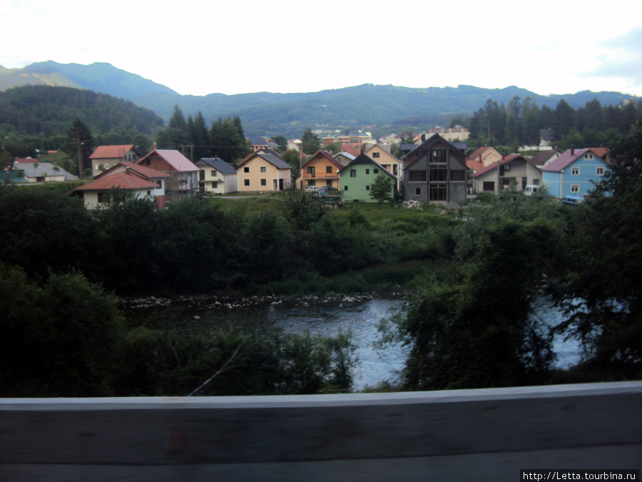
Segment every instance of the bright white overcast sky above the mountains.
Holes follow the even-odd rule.
[[[108,62],[179,94],[467,84],[642,96],[642,0],[0,0],[0,31],[5,68]]]

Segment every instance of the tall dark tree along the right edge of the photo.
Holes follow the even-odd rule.
[[[611,165],[582,206],[559,326],[601,365],[642,363],[642,124],[611,144]]]

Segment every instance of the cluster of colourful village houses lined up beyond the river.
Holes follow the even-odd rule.
[[[323,133],[319,133],[323,134]],[[236,166],[217,157],[188,159],[174,149],[141,154],[133,145],[98,146],[90,156],[91,181],[73,190],[88,209],[111,201],[113,189],[134,197],[153,199],[158,209],[166,202],[196,195],[263,194],[302,189],[324,204],[377,202],[370,187],[378,176],[387,179],[387,201],[457,206],[467,196],[513,190],[531,195],[541,187],[556,199],[581,202],[608,169],[603,147],[569,149],[549,146],[541,131],[536,154],[503,156],[490,146],[470,151],[467,129],[435,128],[414,136],[415,144],[401,144],[401,156],[392,154],[394,137],[375,141],[368,133],[325,136],[312,155],[300,153],[300,168],[292,169],[268,137],[248,139],[252,152]],[[337,154],[323,149],[339,143]],[[299,151],[300,141],[288,142]],[[298,171],[297,175],[292,171]],[[12,182],[47,182],[76,179],[58,166],[36,159],[15,159]],[[332,194],[332,196],[327,196]],[[320,196],[319,196],[320,195]],[[324,196],[327,196],[324,198]]]

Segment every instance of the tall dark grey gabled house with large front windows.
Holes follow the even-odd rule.
[[[414,146],[402,161],[407,201],[447,204],[466,199],[466,156],[439,134]]]

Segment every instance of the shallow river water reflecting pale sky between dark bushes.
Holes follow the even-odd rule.
[[[357,347],[357,366],[354,371],[354,391],[366,386],[375,386],[382,381],[394,381],[404,365],[406,349],[399,343],[377,346],[379,323],[392,316],[399,299],[368,299],[366,301],[331,301],[302,303],[300,301],[277,301],[257,303],[236,308],[213,306],[186,306],[173,304],[168,308],[138,311],[133,318],[137,323],[158,326],[174,323],[191,323],[195,317],[199,323],[218,323],[248,318],[273,323],[284,331],[312,335],[335,336],[338,333],[352,334],[352,343]],[[549,326],[562,321],[562,316],[545,298],[535,302],[534,316]],[[556,366],[569,368],[581,360],[581,349],[575,341],[554,339],[557,355]]]

